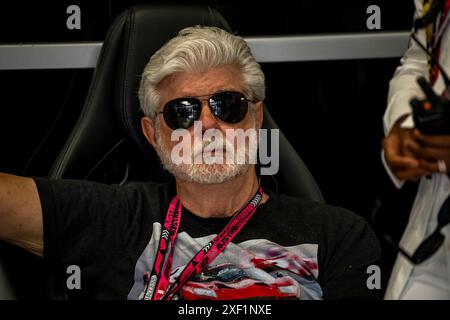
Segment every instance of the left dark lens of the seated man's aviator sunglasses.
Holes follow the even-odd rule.
[[[177,99],[164,106],[164,121],[173,129],[188,129],[200,118],[201,105],[197,99]]]

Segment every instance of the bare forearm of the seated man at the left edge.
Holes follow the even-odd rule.
[[[42,209],[33,179],[0,173],[0,239],[42,256]]]

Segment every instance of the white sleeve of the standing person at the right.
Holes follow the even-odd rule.
[[[422,6],[420,1],[415,1],[415,3],[415,18],[417,18],[422,15]],[[426,43],[425,29],[418,30],[417,38],[423,44]],[[400,117],[411,113],[409,105],[411,98],[423,95],[416,80],[419,76],[426,77],[427,54],[414,40],[410,39],[408,50],[400,60],[400,63],[389,82],[387,109],[383,117],[385,135],[391,131]]]

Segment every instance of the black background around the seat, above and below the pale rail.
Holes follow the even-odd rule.
[[[141,3],[177,2],[2,1],[0,43],[102,41],[122,10]],[[414,12],[412,0],[189,3],[218,9],[242,36],[378,32],[366,28],[366,9],[372,4],[381,8],[380,31],[406,31]],[[81,8],[81,30],[66,28],[71,4]],[[399,236],[414,192],[409,186],[394,190],[380,161],[388,82],[398,63],[399,58],[262,65],[267,105],[326,201],[366,218],[381,240],[383,230]],[[48,173],[81,111],[92,73],[0,71],[0,171]],[[380,205],[377,224],[373,213]],[[395,252],[383,245],[389,265]]]

